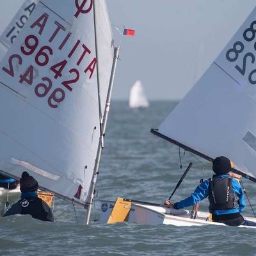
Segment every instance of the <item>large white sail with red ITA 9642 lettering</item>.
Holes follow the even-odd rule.
[[[114,51],[106,2],[94,2],[39,1],[0,64],[0,169],[28,170],[79,202],[99,144],[97,87],[104,109]]]

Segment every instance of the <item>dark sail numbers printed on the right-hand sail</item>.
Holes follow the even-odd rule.
[[[246,42],[251,42],[252,40],[255,39],[255,36],[256,36],[256,29],[254,28],[255,25],[256,25],[256,21],[253,21],[250,25],[250,28],[247,28],[244,30],[243,38],[244,40],[246,40]],[[254,49],[256,51],[256,42],[254,43]],[[239,54],[243,51],[244,51],[244,44],[241,41],[237,41],[234,43],[233,47],[227,51],[226,58],[228,61],[234,62],[238,59]],[[255,62],[255,55],[252,52],[247,52],[246,54],[244,54],[242,65],[241,66],[236,65],[235,67],[236,70],[242,76],[244,76],[246,72],[246,64],[248,62],[252,64]],[[250,72],[248,76],[248,81],[250,84],[256,84],[256,69],[253,69]]]

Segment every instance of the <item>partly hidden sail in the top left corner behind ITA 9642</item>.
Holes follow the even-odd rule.
[[[24,27],[24,24],[28,20],[29,15],[33,12],[38,1],[39,0],[25,0],[10,24],[8,24],[6,29],[4,29],[0,36],[0,60],[3,59],[4,54],[6,54],[14,40],[19,35],[20,29]]]

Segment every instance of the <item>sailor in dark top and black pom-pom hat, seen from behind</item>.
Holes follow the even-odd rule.
[[[37,189],[37,181],[32,176],[29,176],[28,172],[23,172],[20,178],[21,199],[16,204],[13,204],[4,216],[30,214],[35,219],[53,222],[52,210],[44,200],[38,198]]]

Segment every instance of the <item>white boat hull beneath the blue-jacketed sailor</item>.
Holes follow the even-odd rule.
[[[108,223],[109,216],[115,205],[115,201],[101,200],[100,223]],[[132,202],[129,218],[127,222],[141,225],[175,225],[175,226],[202,226],[202,225],[220,225],[223,223],[209,221],[209,212],[198,211],[196,219],[190,218],[191,212],[188,210],[170,209],[162,206],[150,204],[139,204]],[[256,223],[256,218],[244,217],[245,220]],[[256,228],[251,226],[239,226]]]

